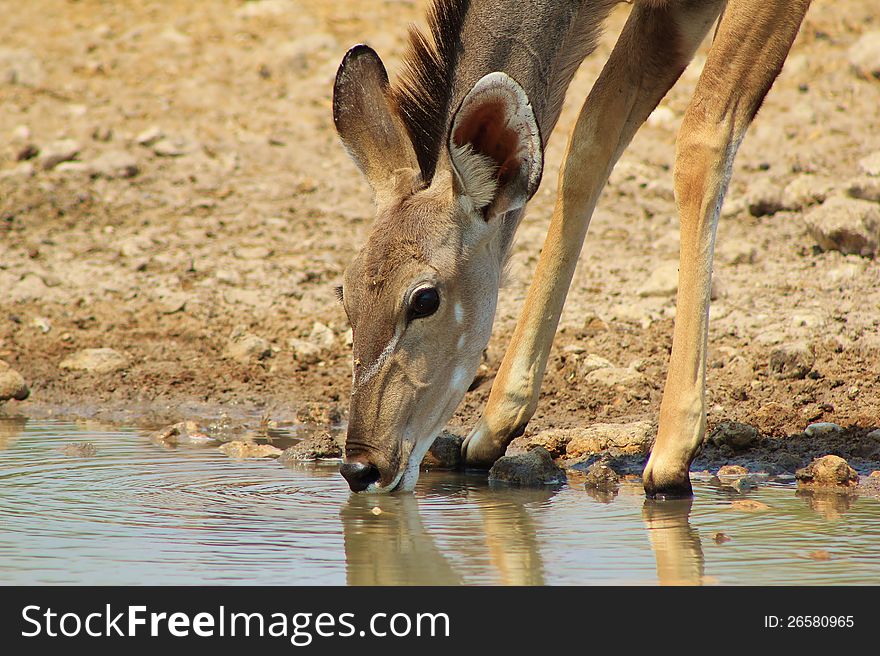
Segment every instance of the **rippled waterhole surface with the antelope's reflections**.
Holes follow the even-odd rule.
[[[62,453],[81,442],[97,453]],[[435,472],[414,495],[351,495],[334,464],[0,419],[0,583],[880,584],[880,501],[765,486],[747,498],[769,509],[746,511],[695,487],[607,502]]]

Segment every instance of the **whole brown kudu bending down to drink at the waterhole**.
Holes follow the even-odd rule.
[[[546,140],[617,0],[435,0],[390,84],[352,48],[333,118],[378,214],[340,295],[354,366],[343,476],[352,490],[411,490],[425,452],[474,379],[502,269],[541,180]],[[649,496],[691,494],[706,428],[715,228],[734,155],[782,68],[808,0],[633,0],[569,137],[556,206],[488,403],[463,444],[491,465],[535,412],[578,255],[611,169],[709,29],[712,47],[678,134],[681,251],[675,330]]]

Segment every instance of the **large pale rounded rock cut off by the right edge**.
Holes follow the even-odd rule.
[[[804,215],[807,230],[820,248],[846,255],[873,257],[880,242],[880,208],[876,203],[834,197]]]

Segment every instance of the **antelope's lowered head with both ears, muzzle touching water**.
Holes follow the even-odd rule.
[[[412,490],[476,374],[492,330],[509,226],[540,182],[543,151],[523,89],[479,80],[452,113],[436,170],[420,169],[381,60],[352,48],[333,116],[375,194],[377,217],[345,272],[354,365],[345,460],[352,490]]]

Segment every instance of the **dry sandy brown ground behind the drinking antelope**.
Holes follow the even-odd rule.
[[[221,413],[344,420],[348,326],[333,288],[373,208],[333,129],[332,80],[359,41],[393,75],[405,26],[425,4],[31,0],[4,12],[0,358],[31,387],[6,411],[145,425]],[[455,425],[473,422],[488,394],[540,252],[565,134],[626,13],[613,15],[571,87],[502,290],[486,376]],[[880,445],[863,436],[880,425],[880,268],[817,248],[807,208],[756,217],[749,203],[795,180],[840,195],[863,175],[859,161],[880,151],[880,81],[856,75],[848,50],[878,25],[873,0],[814,3],[736,162],[709,355],[710,427],[737,420],[781,437],[836,422],[855,430],[835,448],[847,455],[858,444],[875,461]],[[674,293],[641,292],[677,257],[674,136],[708,45],[604,192],[530,432],[656,421]],[[75,158],[44,170],[63,139],[76,142]],[[234,333],[265,342],[234,357]],[[317,352],[297,357],[291,339]],[[770,354],[795,342],[815,363],[803,378],[779,379]],[[126,364],[103,374],[60,367],[98,347]],[[642,378],[589,383],[588,354]]]

